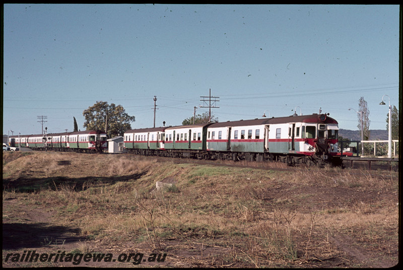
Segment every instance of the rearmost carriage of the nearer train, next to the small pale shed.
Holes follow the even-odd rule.
[[[128,153],[141,155],[161,154],[165,147],[165,127],[129,129],[123,134]]]

